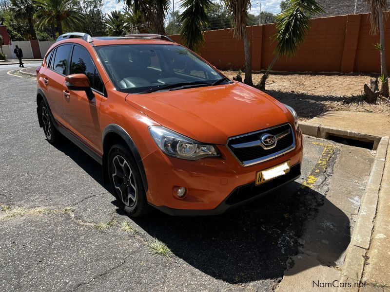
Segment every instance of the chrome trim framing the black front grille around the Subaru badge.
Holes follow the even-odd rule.
[[[279,128],[279,127],[283,127],[285,125],[289,125],[290,126],[290,129],[287,131],[283,131],[275,136],[277,136],[278,139],[282,139],[283,137],[285,137],[286,135],[292,133],[292,145],[280,150],[280,151],[277,151],[277,152],[274,152],[270,155],[266,155],[266,156],[262,156],[262,157],[259,157],[259,158],[256,158],[256,159],[253,159],[253,160],[248,160],[248,161],[240,161],[234,154],[234,152],[232,151],[231,147],[229,146],[229,142],[233,139],[237,139],[237,138],[241,138],[241,137],[245,137],[245,136],[250,136],[250,135],[254,135],[254,134],[259,134],[259,133],[263,133],[263,132],[266,132],[266,131],[269,131],[271,129],[274,129],[274,128]],[[256,141],[253,141],[253,142],[256,142]],[[249,142],[249,143],[253,143],[253,142]],[[245,144],[245,143],[243,143]],[[260,146],[260,145],[253,145],[253,146]],[[253,147],[253,146],[249,146],[249,147]],[[226,141],[226,147],[229,149],[230,153],[232,153],[232,155],[234,156],[234,158],[239,162],[239,164],[241,164],[242,166],[251,166],[251,165],[254,165],[254,164],[258,164],[258,163],[262,163],[264,161],[267,161],[267,160],[270,160],[270,159],[273,159],[275,157],[278,157],[278,156],[281,156],[283,154],[286,154],[292,150],[295,149],[295,133],[293,131],[293,128],[292,128],[292,125],[290,123],[285,123],[285,124],[281,124],[281,125],[277,125],[277,126],[274,126],[274,127],[270,127],[270,128],[265,128],[265,129],[262,129],[262,130],[258,130],[258,131],[254,131],[254,132],[251,132],[251,133],[247,133],[247,134],[242,134],[242,135],[237,135],[237,136],[234,136],[234,137],[230,137],[227,141]],[[238,147],[237,147],[238,148]]]

